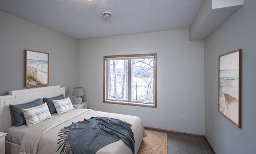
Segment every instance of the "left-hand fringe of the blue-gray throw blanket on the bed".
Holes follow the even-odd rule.
[[[70,133],[70,129],[71,125],[68,127],[64,127],[59,132],[60,138],[58,139],[59,142],[57,144],[60,144],[58,150],[60,150],[60,148],[62,147],[60,154],[73,154],[72,148],[68,142],[68,135]]]

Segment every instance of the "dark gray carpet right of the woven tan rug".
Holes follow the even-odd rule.
[[[204,138],[168,134],[168,154],[213,154]]]

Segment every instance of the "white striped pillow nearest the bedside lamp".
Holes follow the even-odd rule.
[[[69,97],[60,100],[52,100],[58,115],[74,109]]]

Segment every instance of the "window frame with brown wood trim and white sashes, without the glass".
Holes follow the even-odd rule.
[[[108,99],[108,61],[114,59],[134,59],[134,58],[154,58],[154,99],[153,103],[142,102],[142,101],[131,101],[131,84],[128,84],[128,100],[121,99]],[[128,70],[131,70],[131,60],[128,60]],[[112,104],[122,104],[122,105],[134,105],[134,106],[143,106],[143,107],[157,107],[157,54],[136,54],[136,55],[113,55],[113,56],[104,56],[104,66],[103,66],[103,103],[112,103]],[[131,72],[128,71],[128,83],[131,83]]]

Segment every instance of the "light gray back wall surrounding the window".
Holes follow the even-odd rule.
[[[103,56],[143,53],[158,54],[157,108],[102,103]],[[189,41],[189,29],[79,40],[78,65],[89,108],[136,115],[147,127],[204,135],[204,42]]]

